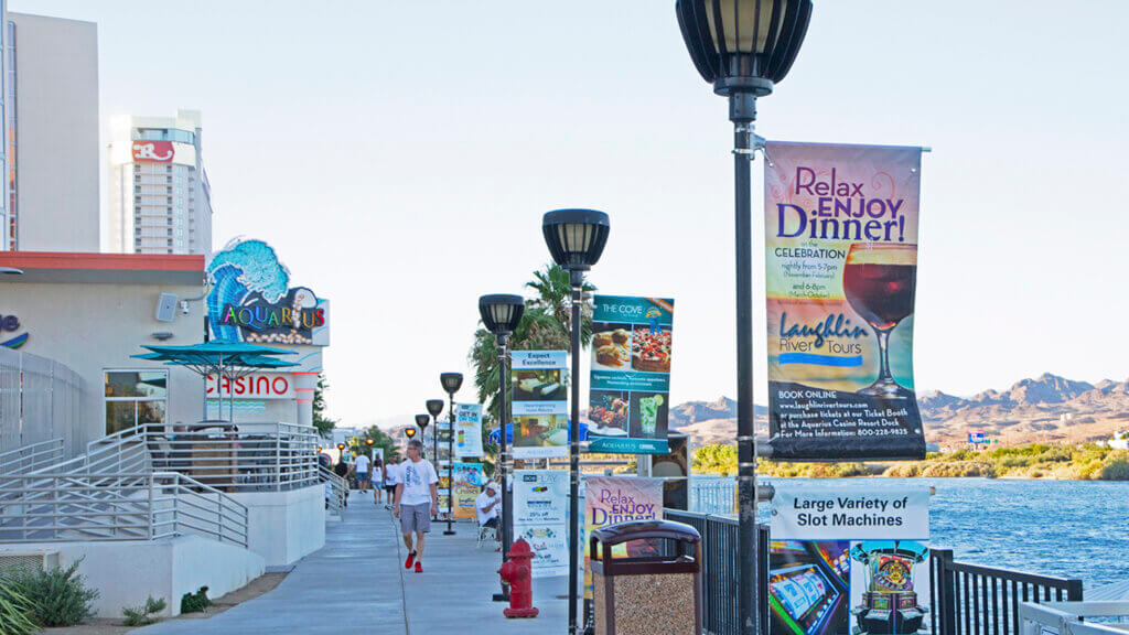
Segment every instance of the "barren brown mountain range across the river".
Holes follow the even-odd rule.
[[[1129,380],[1091,384],[1044,373],[1004,392],[986,390],[971,398],[921,393],[918,406],[930,443],[960,445],[973,430],[1007,445],[1080,443],[1129,428]],[[768,434],[768,408],[756,406],[754,414],[758,434]],[[671,408],[669,425],[690,435],[692,445],[733,443],[736,401],[725,397],[688,401]]]

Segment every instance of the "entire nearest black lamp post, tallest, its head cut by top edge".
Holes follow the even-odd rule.
[[[738,620],[760,633],[756,545],[756,445],[753,438],[753,272],[751,163],[763,140],[753,133],[756,98],[791,69],[807,34],[812,0],[676,0],[690,59],[714,92],[729,98],[734,130],[737,251]]]

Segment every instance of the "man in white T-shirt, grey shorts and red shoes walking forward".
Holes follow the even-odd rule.
[[[412,440],[408,443],[408,460],[400,466],[396,482],[396,499],[394,514],[400,519],[400,532],[404,536],[408,547],[408,559],[404,568],[422,573],[423,539],[431,531],[431,516],[439,512],[439,475],[435,466],[423,459],[423,443]],[[412,533],[415,543],[412,545]]]

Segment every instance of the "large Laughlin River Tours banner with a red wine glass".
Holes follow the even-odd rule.
[[[921,459],[921,149],[769,142],[769,428],[779,460]]]

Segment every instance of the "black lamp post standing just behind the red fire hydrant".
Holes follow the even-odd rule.
[[[506,481],[506,462],[509,455],[506,453],[506,428],[509,426],[509,407],[506,405],[506,395],[509,392],[509,336],[517,330],[522,323],[522,315],[525,313],[525,298],[519,295],[491,294],[479,298],[479,316],[488,331],[493,333],[498,343],[498,481],[501,484],[501,557],[502,560],[509,554],[509,546],[513,542],[513,493]],[[509,586],[502,582],[501,593],[495,593],[496,602],[509,601]]]

